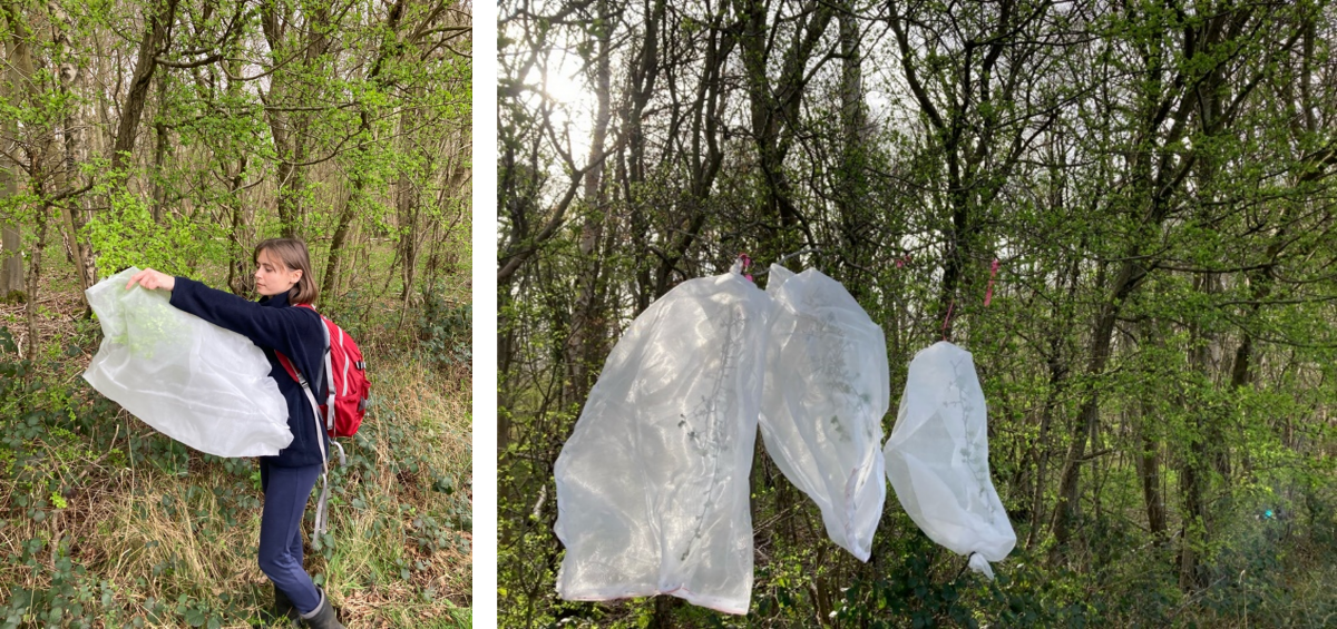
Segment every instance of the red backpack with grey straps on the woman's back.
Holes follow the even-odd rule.
[[[316,310],[309,303],[297,307]],[[353,337],[345,334],[344,329],[325,315],[321,315],[321,321],[325,322],[325,382],[329,385],[329,397],[320,405],[320,413],[326,417],[325,430],[330,437],[353,437],[362,425],[362,417],[366,415],[366,401],[372,387],[366,382],[366,363],[362,362],[362,350],[357,349]],[[293,369],[291,361],[278,354],[278,362],[287,370],[287,375],[308,389],[314,403],[316,394],[302,374]]]

